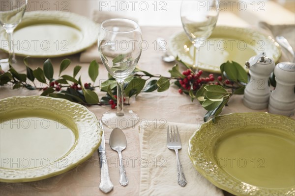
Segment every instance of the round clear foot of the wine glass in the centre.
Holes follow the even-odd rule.
[[[102,115],[101,121],[109,128],[125,129],[135,127],[139,117],[132,110],[124,109],[124,116],[117,116],[117,110],[110,110]]]

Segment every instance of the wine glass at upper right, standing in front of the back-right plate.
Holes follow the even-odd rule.
[[[196,69],[199,65],[200,45],[212,34],[218,15],[218,0],[183,0],[181,2],[181,23],[195,48],[194,67]]]

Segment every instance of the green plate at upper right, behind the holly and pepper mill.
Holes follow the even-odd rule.
[[[172,36],[169,45],[174,56],[178,55],[189,66],[194,64],[194,47],[184,31]],[[275,61],[281,56],[279,45],[271,37],[249,28],[216,26],[200,49],[199,69],[220,73],[222,63],[230,60],[243,66],[250,57],[263,51]]]

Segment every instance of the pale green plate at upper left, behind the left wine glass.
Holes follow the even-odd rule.
[[[86,17],[61,11],[26,12],[14,31],[15,54],[58,57],[80,52],[97,41],[99,26]],[[8,51],[7,34],[0,48]]]

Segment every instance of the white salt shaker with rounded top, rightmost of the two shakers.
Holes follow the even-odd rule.
[[[292,116],[295,112],[295,63],[277,64],[274,75],[277,84],[269,98],[268,112]]]

